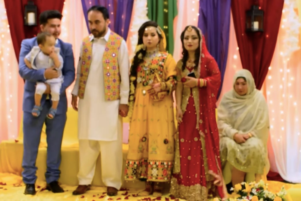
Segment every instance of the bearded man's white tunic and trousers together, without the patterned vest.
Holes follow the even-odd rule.
[[[94,38],[92,62],[83,99],[78,103],[79,138],[79,185],[92,183],[96,160],[101,153],[101,175],[106,186],[121,187],[122,175],[122,117],[118,115],[119,104],[128,104],[129,55],[123,40],[118,65],[121,78],[120,100],[107,101],[104,96],[103,53],[110,36],[110,29],[101,38]],[[82,53],[82,47],[81,51]],[[81,60],[77,66],[76,82],[72,91],[78,95]]]

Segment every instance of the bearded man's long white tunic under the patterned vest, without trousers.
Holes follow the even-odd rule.
[[[92,62],[83,99],[78,104],[79,140],[115,141],[119,104],[127,104],[129,97],[129,56],[123,40],[118,53],[119,74],[121,77],[120,100],[107,101],[104,96],[103,54],[110,36],[110,29],[102,38],[93,40]],[[81,51],[82,52],[82,47]],[[78,95],[81,60],[77,67],[76,83],[72,94]]]

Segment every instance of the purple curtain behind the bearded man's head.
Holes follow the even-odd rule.
[[[82,10],[89,33],[87,11],[94,5],[101,5],[109,11],[110,29],[126,40],[131,22],[133,4],[134,0],[82,0]]]

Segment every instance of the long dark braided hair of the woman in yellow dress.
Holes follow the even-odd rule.
[[[143,44],[144,30],[148,26],[153,26],[153,27],[157,28],[158,24],[157,24],[157,22],[154,22],[154,21],[144,22],[138,30],[138,43],[137,43],[137,45]],[[157,33],[158,33],[158,31],[157,31]],[[158,33],[158,36],[159,36],[159,42],[160,42],[160,40],[162,39],[162,36],[159,33]],[[138,57],[138,55],[140,53],[142,54],[141,58]],[[133,58],[132,65],[131,65],[130,76],[135,76],[137,78],[137,68],[138,68],[139,64],[143,62],[143,58],[145,57],[145,55],[146,55],[146,50],[144,50],[143,48],[141,48],[139,51],[136,52],[136,54]],[[134,82],[135,86],[136,86],[136,84],[137,84],[137,79]]]

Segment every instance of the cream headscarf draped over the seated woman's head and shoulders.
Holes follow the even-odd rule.
[[[248,92],[241,96],[234,90],[234,83],[238,77],[247,81]],[[250,71],[243,69],[237,71],[233,79],[233,89],[222,98],[218,107],[218,126],[231,127],[238,133],[252,133],[267,145],[269,131],[268,106],[265,98],[255,87],[255,82]],[[227,129],[220,130],[220,136],[229,136]]]

